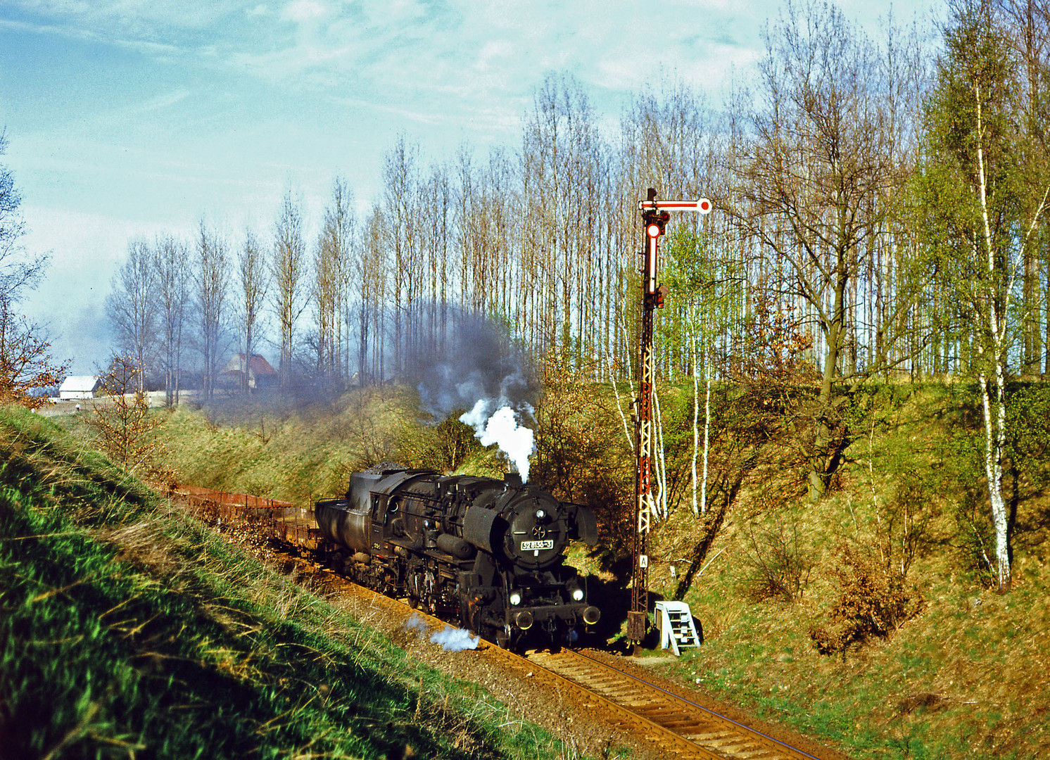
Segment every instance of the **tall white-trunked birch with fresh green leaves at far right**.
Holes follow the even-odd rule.
[[[951,5],[926,112],[928,156],[920,229],[958,304],[972,346],[984,422],[984,476],[995,534],[992,571],[1010,587],[1010,514],[1003,492],[1006,383],[1022,333],[1025,260],[1046,224],[1050,177],[1024,164],[1020,69],[995,7]],[[990,563],[991,564],[991,563]]]

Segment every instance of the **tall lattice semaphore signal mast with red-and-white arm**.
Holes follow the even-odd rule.
[[[642,250],[642,330],[638,350],[637,415],[634,428],[637,452],[637,477],[634,484],[634,552],[631,569],[631,609],[627,613],[627,635],[635,642],[635,651],[646,636],[649,610],[649,555],[646,539],[652,518],[652,449],[653,449],[653,310],[664,308],[667,286],[656,284],[658,241],[664,234],[671,211],[696,211],[707,214],[711,202],[657,200],[656,190],[649,188],[648,197],[638,202],[642,211],[645,247]]]

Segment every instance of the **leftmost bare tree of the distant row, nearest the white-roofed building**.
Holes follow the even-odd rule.
[[[128,244],[124,266],[113,275],[106,313],[117,332],[121,351],[134,358],[139,392],[145,389],[146,367],[156,341],[156,257],[142,238]]]

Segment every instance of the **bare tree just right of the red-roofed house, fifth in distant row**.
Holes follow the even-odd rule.
[[[285,191],[277,221],[274,225],[273,299],[280,329],[280,383],[287,386],[292,378],[292,356],[295,322],[306,309],[304,275],[307,246],[302,238],[302,207],[291,188]]]

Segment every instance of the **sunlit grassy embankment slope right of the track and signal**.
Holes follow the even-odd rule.
[[[1018,498],[1014,585],[999,595],[983,583],[987,566],[975,556],[987,529],[987,491],[972,450],[980,418],[961,389],[901,396],[892,404],[880,397],[879,419],[847,450],[830,498],[808,504],[783,472],[762,476],[766,495],[783,489],[777,510],[749,499],[758,495],[754,484],[740,498],[709,552],[717,558],[687,595],[705,645],[663,669],[830,739],[850,757],[1050,757],[1050,508],[1032,485],[1033,469],[1047,463],[1027,463],[1030,477],[1010,486]],[[674,562],[672,534],[688,531],[689,522],[657,536],[656,585]],[[889,556],[897,568],[905,545],[914,556],[901,588],[918,614],[887,637],[820,654],[810,632],[828,625],[843,595],[841,547]],[[796,598],[755,601],[756,580],[790,574],[789,560],[803,563]]]

